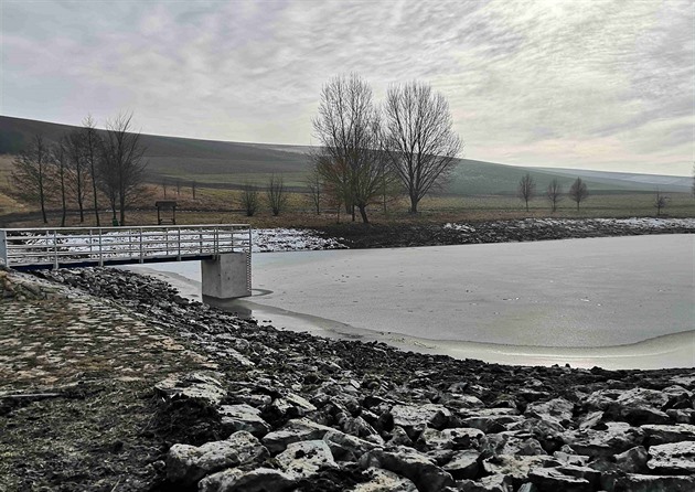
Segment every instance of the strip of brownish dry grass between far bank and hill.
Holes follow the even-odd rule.
[[[13,200],[8,194],[7,178],[11,169],[11,160],[0,157],[0,223],[7,226],[26,227],[43,226],[38,216],[38,206],[25,205]],[[149,184],[143,197],[127,213],[130,225],[151,225],[157,222],[154,202],[158,200],[175,200],[178,202],[178,224],[223,224],[223,223],[250,223],[255,227],[312,227],[338,222],[335,210],[317,215],[313,212],[309,196],[304,193],[288,192],[287,210],[278,217],[270,214],[263,192],[263,182],[259,185],[261,207],[257,215],[247,217],[242,211],[240,191],[218,188],[196,188],[195,199],[189,184],[182,184],[177,192],[177,186],[170,183],[164,196],[161,184]],[[672,217],[695,216],[695,200],[688,193],[670,193],[670,202],[663,214]],[[103,201],[101,203],[106,203]],[[565,197],[555,213],[550,212],[548,202],[544,197],[536,197],[530,203],[526,212],[523,202],[515,196],[484,195],[431,195],[426,196],[419,204],[417,215],[409,214],[408,201],[405,197],[397,199],[387,204],[386,211],[381,204],[370,207],[370,221],[377,224],[398,223],[442,223],[458,221],[491,221],[523,217],[629,217],[654,216],[653,193],[602,193],[592,194],[582,202],[579,211],[576,204]],[[57,226],[61,223],[60,207],[51,204],[53,211],[49,226]],[[3,221],[3,215],[14,214]],[[110,213],[101,212],[101,224],[110,225]],[[341,222],[349,222],[350,217],[340,214]],[[357,217],[357,221],[360,218]],[[67,217],[67,226],[95,226],[93,213],[86,214],[86,222],[81,224],[76,212],[71,212]]]

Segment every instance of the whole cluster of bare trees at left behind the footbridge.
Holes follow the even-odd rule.
[[[107,120],[101,135],[90,116],[82,128],[49,143],[41,135],[14,159],[10,180],[14,193],[30,203],[38,203],[44,224],[46,205],[60,200],[61,226],[65,226],[68,202],[79,210],[79,222],[89,208],[97,227],[101,226],[100,200],[111,210],[111,224],[124,225],[126,211],[142,192],[147,160],[140,143],[140,132],[132,130],[132,115],[120,114]]]

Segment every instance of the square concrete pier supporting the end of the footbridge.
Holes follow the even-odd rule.
[[[250,253],[224,253],[201,260],[203,296],[234,299],[250,296]]]

